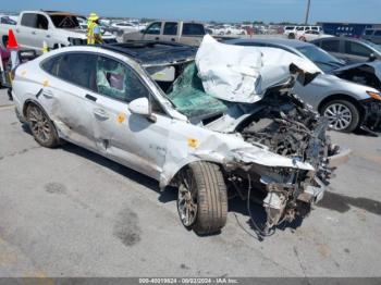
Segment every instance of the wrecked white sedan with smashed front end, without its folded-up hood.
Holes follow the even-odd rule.
[[[226,222],[228,188],[261,193],[261,232],[306,215],[340,158],[328,122],[292,92],[292,67],[253,103],[205,91],[194,48],[163,42],[67,47],[22,64],[13,97],[45,147],[67,140],[179,188],[184,226],[198,234]]]

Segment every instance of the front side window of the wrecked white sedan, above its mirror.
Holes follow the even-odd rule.
[[[99,94],[124,102],[149,97],[149,90],[130,66],[110,58],[98,57],[96,70]]]

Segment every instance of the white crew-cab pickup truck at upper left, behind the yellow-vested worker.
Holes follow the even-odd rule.
[[[8,32],[13,29],[22,49],[41,51],[46,41],[50,49],[64,46],[86,45],[86,30],[81,29],[79,15],[57,11],[24,11],[16,25],[0,25],[0,45],[7,46]],[[102,36],[106,42],[115,42],[111,34]]]

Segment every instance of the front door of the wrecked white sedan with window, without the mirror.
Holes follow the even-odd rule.
[[[95,140],[99,152],[159,179],[165,161],[171,119],[152,101],[149,88],[132,66],[98,55],[94,97]],[[146,97],[156,121],[131,113],[128,103]]]

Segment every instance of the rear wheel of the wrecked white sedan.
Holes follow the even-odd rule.
[[[54,148],[60,145],[56,127],[41,108],[30,103],[26,108],[26,121],[39,145],[47,148]]]

